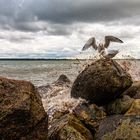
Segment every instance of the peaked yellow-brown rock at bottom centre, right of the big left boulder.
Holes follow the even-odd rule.
[[[51,124],[49,140],[93,140],[90,131],[73,115],[64,115]]]

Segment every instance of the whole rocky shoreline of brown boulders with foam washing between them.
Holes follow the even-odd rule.
[[[0,139],[139,140],[140,81],[104,59],[74,83],[65,75],[40,87],[0,77]]]

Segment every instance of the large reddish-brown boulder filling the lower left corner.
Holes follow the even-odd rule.
[[[47,127],[47,114],[35,87],[0,77],[0,139],[46,140]]]

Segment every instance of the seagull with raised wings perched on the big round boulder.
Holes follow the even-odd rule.
[[[105,42],[104,43],[99,43],[99,45],[96,44],[96,40],[95,37],[91,37],[86,44],[84,45],[84,47],[82,48],[82,51],[85,51],[86,49],[90,48],[91,46],[98,51],[99,56],[103,57],[103,58],[113,58],[116,54],[119,53],[118,50],[111,50],[106,51],[106,49],[109,47],[110,42],[118,42],[118,43],[123,43],[122,40],[120,40],[117,37],[114,36],[105,36]]]

